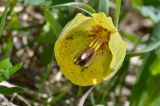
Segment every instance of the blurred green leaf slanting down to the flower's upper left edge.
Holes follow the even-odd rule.
[[[58,36],[60,34],[61,30],[62,30],[62,26],[57,22],[55,17],[52,15],[51,11],[44,8],[43,13],[45,15],[45,18],[46,18],[47,22],[51,26],[51,29]]]

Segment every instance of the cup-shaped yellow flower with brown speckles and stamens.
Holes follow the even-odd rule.
[[[110,17],[79,13],[65,26],[54,50],[62,73],[76,85],[90,86],[117,72],[126,48]]]

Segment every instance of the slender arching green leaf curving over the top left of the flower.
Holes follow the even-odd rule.
[[[71,2],[71,3],[65,3],[65,4],[59,4],[59,5],[53,5],[53,6],[48,6],[46,8],[65,8],[65,7],[74,7],[78,8],[90,15],[92,13],[96,13],[96,11],[89,5],[84,4],[84,3],[78,3],[78,2]]]

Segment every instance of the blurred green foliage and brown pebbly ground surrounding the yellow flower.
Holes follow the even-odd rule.
[[[77,13],[95,11],[113,18],[129,48],[118,73],[97,85],[84,106],[160,106],[159,0],[1,0],[0,94],[8,103],[77,105],[89,87],[65,79],[53,48]]]

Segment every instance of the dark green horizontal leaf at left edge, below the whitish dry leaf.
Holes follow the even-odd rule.
[[[24,92],[24,89],[21,87],[6,87],[0,85],[0,93],[4,95],[9,95],[13,93],[21,93]]]

